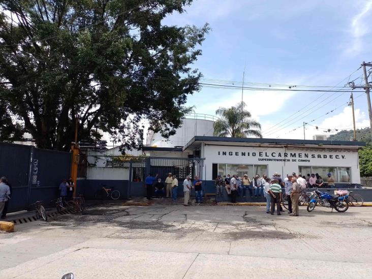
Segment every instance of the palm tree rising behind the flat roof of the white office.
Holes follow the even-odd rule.
[[[245,110],[245,103],[240,102],[235,107],[219,108],[215,111],[220,116],[213,124],[214,136],[246,138],[253,136],[262,138],[261,124],[254,119],[249,111]]]

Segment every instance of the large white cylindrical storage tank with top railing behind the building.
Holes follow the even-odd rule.
[[[213,123],[218,118],[208,114],[190,114],[185,116],[182,126],[169,139],[155,133],[149,140],[148,146],[175,147],[186,145],[195,136],[213,136]]]

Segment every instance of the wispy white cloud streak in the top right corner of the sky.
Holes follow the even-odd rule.
[[[352,39],[351,43],[345,49],[344,53],[348,56],[355,56],[360,53],[363,49],[363,38],[370,33],[368,17],[372,13],[372,0],[368,0],[364,3],[364,6],[358,14],[356,14],[350,25],[350,35]]]

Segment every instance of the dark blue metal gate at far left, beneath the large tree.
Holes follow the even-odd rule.
[[[37,200],[49,203],[68,178],[71,153],[0,142],[0,176],[12,187],[9,212],[24,210]]]

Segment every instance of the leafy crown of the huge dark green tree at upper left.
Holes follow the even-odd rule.
[[[0,134],[68,149],[107,132],[142,142],[140,122],[174,134],[200,89],[191,65],[208,26],[168,26],[192,0],[3,0],[0,2]],[[15,121],[13,121],[15,119]]]

